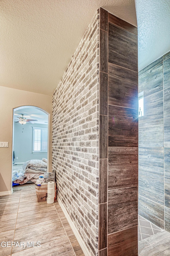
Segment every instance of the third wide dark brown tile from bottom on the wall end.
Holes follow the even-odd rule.
[[[109,147],[108,189],[138,186],[138,148]]]

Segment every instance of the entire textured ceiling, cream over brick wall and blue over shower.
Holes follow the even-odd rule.
[[[1,0],[0,86],[52,95],[98,7],[134,26],[138,19],[140,70],[170,50],[169,3]]]

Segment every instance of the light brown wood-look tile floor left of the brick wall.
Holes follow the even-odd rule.
[[[37,203],[34,190],[0,197],[0,243],[24,242],[25,247],[0,247],[1,256],[84,256],[58,202]],[[27,247],[27,242],[41,243]]]

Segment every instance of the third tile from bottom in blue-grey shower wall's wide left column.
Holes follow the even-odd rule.
[[[163,147],[139,147],[139,171],[145,171],[147,173],[158,174],[163,176]]]

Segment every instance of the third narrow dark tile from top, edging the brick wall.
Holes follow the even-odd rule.
[[[108,75],[99,72],[99,115],[108,114]]]

